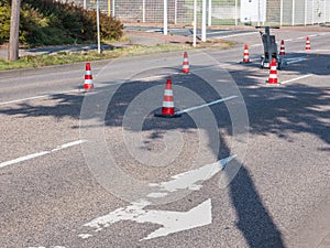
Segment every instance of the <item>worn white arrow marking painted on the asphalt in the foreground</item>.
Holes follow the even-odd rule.
[[[210,198],[193,207],[188,212],[153,211],[144,208],[152,204],[147,198],[164,197],[172,192],[177,192],[179,190],[200,190],[202,187],[202,182],[211,179],[218,172],[223,170],[234,157],[235,155],[228,157],[216,163],[174,175],[172,176],[173,180],[168,182],[151,183],[150,186],[155,187],[157,192],[148,194],[145,198],[135,201],[129,206],[117,208],[107,215],[97,217],[85,224],[84,227],[94,228],[95,233],[98,233],[103,228],[122,220],[131,220],[141,224],[153,223],[162,226],[141,239],[145,240],[209,225],[212,223],[212,205]],[[82,239],[91,236],[92,235],[90,234],[78,235],[78,237]]]

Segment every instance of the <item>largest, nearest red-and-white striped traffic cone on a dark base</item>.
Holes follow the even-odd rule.
[[[175,117],[182,116],[179,114],[176,114],[174,110],[174,97],[173,97],[172,78],[170,77],[167,77],[167,80],[166,80],[162,112],[155,114],[154,116],[155,117],[166,117],[166,118],[175,118]]]

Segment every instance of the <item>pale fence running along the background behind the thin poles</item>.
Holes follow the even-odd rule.
[[[97,0],[64,0],[95,9]],[[98,0],[100,10],[122,22],[162,23],[164,2],[172,24],[191,24],[194,0]],[[209,25],[308,25],[330,22],[330,0],[197,0],[198,22],[202,1]],[[200,23],[198,23],[200,24]]]

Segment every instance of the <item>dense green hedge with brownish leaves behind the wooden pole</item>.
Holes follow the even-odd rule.
[[[10,0],[0,3],[0,44],[9,42]],[[30,46],[94,43],[97,39],[96,11],[54,0],[22,0],[20,42]],[[122,23],[100,13],[102,40],[119,40]]]

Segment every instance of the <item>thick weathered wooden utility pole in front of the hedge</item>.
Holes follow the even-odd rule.
[[[21,0],[12,0],[8,61],[19,60],[20,7]]]

